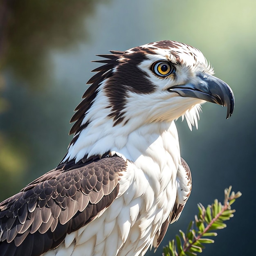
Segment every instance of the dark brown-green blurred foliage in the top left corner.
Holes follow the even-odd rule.
[[[19,79],[37,87],[36,80],[49,75],[49,51],[88,38],[86,27],[81,33],[81,26],[98,2],[2,0],[0,54],[4,65],[11,65]]]

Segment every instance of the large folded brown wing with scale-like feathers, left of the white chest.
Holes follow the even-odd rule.
[[[0,256],[41,255],[106,209],[119,192],[120,157],[52,170],[0,203]]]

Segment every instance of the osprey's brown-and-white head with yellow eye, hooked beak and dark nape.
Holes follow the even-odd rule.
[[[198,49],[166,40],[110,52],[98,55],[104,59],[96,62],[105,64],[93,70],[97,74],[88,81],[91,85],[75,109],[70,151],[85,147],[85,139],[76,143],[82,133],[93,144],[99,136],[124,135],[145,124],[179,117],[186,117],[190,128],[197,126],[200,104],[206,101],[227,106],[227,118],[231,116],[234,94],[213,76]]]

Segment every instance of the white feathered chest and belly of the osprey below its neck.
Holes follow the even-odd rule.
[[[112,150],[128,159],[118,197],[99,218],[67,235],[54,254],[45,256],[144,255],[152,245],[177,194],[180,149],[175,124],[162,133],[158,128],[151,134],[136,130],[123,148]]]

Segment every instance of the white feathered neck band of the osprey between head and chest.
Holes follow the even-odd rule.
[[[105,118],[101,122],[91,121],[81,130],[78,139],[68,148],[63,162],[72,159],[78,162],[85,155],[89,158],[109,151],[116,151],[135,162],[141,155],[162,158],[165,154],[162,150],[175,150],[180,155],[174,121],[144,124],[131,130],[131,126],[123,124],[113,127],[112,119]]]

